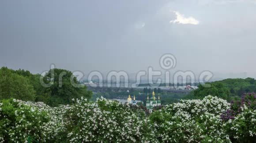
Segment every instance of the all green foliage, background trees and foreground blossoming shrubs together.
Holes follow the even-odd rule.
[[[160,93],[162,104],[170,105],[155,107],[149,114],[141,103],[130,106],[103,98],[96,100],[102,95],[127,97],[127,92],[109,89],[106,93],[95,93],[91,99],[95,102],[90,102],[87,99],[92,93],[86,87],[72,85],[72,81],[79,84],[72,72],[53,70],[43,77],[51,86],[43,87],[39,81],[41,75],[21,69],[0,69],[0,99],[4,99],[0,101],[0,142],[25,142],[28,136],[40,143],[252,143],[256,140],[255,95],[244,96],[232,106],[226,101],[256,91],[255,79],[226,79],[207,83],[210,87],[199,85],[185,97],[199,100],[180,100],[184,95],[154,89]],[[130,89],[131,94],[138,95],[136,99],[142,101],[152,90],[145,88],[144,93],[139,94]],[[26,102],[6,99],[11,97]],[[56,107],[29,102],[34,99]],[[233,118],[222,120],[220,114],[230,110],[235,111]]]

